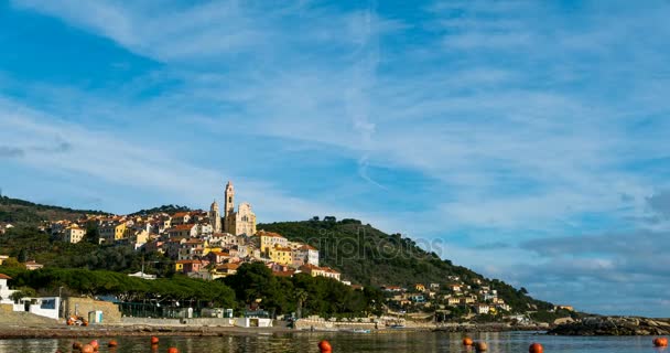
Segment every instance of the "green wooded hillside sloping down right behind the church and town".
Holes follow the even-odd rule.
[[[257,228],[317,247],[324,266],[338,269],[343,272],[343,278],[355,284],[412,288],[415,284],[445,285],[451,281],[450,276],[457,276],[474,289],[490,286],[517,310],[549,310],[553,307],[529,297],[526,289],[517,290],[504,281],[485,278],[471,269],[443,260],[434,253],[424,252],[414,240],[400,234],[386,234],[357,220],[324,220],[258,224]]]

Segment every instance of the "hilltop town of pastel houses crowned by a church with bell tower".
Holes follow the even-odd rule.
[[[316,248],[289,242],[277,233],[257,231],[251,205],[242,202],[236,208],[230,181],[224,190],[224,200],[223,212],[214,201],[209,211],[86,215],[75,221],[51,222],[45,229],[52,237],[71,244],[88,236],[100,245],[128,245],[144,253],[156,252],[174,261],[176,272],[192,278],[225,278],[236,274],[245,263],[262,261],[277,276],[305,272],[342,280],[339,271],[320,267]]]

